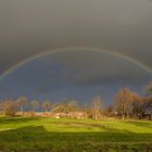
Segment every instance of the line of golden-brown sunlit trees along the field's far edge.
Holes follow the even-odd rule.
[[[79,105],[76,100],[67,100],[62,103],[52,104],[51,101],[43,101],[41,104],[37,100],[30,102],[25,97],[18,97],[16,100],[4,100],[0,102],[0,109],[5,115],[13,116],[20,110],[31,109],[35,113],[38,107],[42,107],[45,113],[65,113],[84,112],[88,118],[98,119],[104,116],[116,116],[121,118],[142,117],[148,109],[152,111],[152,83],[147,87],[144,97],[140,97],[137,92],[129,88],[121,88],[112,105],[103,106],[100,96],[96,96],[89,105]],[[151,116],[151,115],[150,115]]]

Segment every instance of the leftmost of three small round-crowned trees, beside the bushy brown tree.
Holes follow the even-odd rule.
[[[18,97],[16,100],[17,106],[20,106],[21,112],[24,112],[24,106],[27,104],[28,100],[25,97]]]

